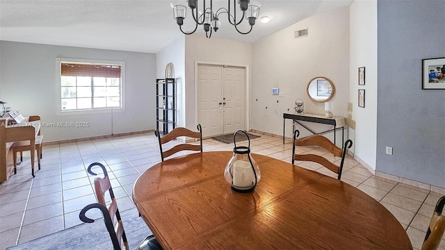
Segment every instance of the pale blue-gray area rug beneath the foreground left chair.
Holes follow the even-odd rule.
[[[152,234],[138,216],[138,210],[131,208],[120,213],[124,222],[129,248],[135,249],[145,237]],[[43,236],[29,242],[8,247],[7,250],[63,250],[63,249],[113,249],[110,235],[106,231],[104,219],[93,223],[83,223],[57,233]]]

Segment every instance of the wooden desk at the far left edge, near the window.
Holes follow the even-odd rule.
[[[14,142],[29,140],[31,147],[35,147],[35,137],[39,132],[40,121],[11,125],[5,119],[0,120],[0,183],[7,181],[13,171],[13,149],[11,147]],[[31,165],[33,165],[35,150],[31,150],[31,152]]]

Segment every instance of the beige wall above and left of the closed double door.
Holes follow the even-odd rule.
[[[251,55],[251,44],[221,38],[208,40],[204,35],[197,34],[186,36],[186,127],[195,128],[197,123],[197,117],[195,117],[195,62],[247,65],[250,69]],[[246,72],[246,75],[250,79],[249,71]]]

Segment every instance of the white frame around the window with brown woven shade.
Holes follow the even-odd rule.
[[[95,63],[104,65],[121,65],[120,76],[120,108],[91,108],[82,110],[62,110],[62,76],[60,63]],[[90,59],[76,59],[76,58],[56,58],[56,111],[57,115],[89,115],[99,113],[112,113],[125,111],[125,62],[110,61],[110,60],[90,60]]]

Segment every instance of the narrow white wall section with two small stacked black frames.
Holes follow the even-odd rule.
[[[349,136],[354,157],[375,170],[377,145],[377,1],[354,1],[350,6]],[[365,67],[365,85],[358,85],[358,68]],[[365,108],[358,90],[365,90]]]

